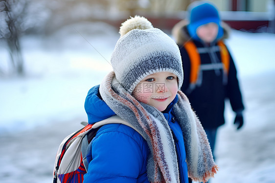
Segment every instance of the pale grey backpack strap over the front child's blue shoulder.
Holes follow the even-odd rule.
[[[129,126],[129,127],[133,128],[135,131],[137,131],[141,135],[141,137],[144,138],[144,136],[138,131],[138,129],[136,127],[134,127],[133,125],[131,125],[124,119],[120,118],[118,115],[113,115],[112,117],[109,117],[107,119],[104,119],[102,121],[98,121],[98,122],[94,123],[92,125],[92,132],[91,132],[92,134],[85,135],[82,139],[82,144],[81,144],[82,161],[84,163],[86,171],[88,171],[88,166],[89,166],[89,162],[86,158],[89,153],[89,152],[87,152],[87,149],[89,146],[89,140],[91,138],[95,137],[97,131],[99,130],[99,128],[101,126],[106,125],[106,124],[112,124],[112,123],[124,124],[126,126]]]

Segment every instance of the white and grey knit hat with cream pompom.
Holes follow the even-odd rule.
[[[119,33],[111,64],[117,81],[127,92],[132,93],[146,76],[165,71],[178,77],[181,88],[182,59],[174,40],[140,16],[122,23]]]

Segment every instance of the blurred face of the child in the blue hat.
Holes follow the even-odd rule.
[[[206,23],[197,28],[197,35],[204,42],[211,43],[217,38],[218,31],[217,23]]]

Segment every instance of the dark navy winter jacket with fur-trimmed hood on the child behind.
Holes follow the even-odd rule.
[[[224,26],[224,38],[228,37],[229,28]],[[229,73],[225,74],[222,68],[215,68],[215,64],[221,63],[220,49],[217,42],[205,45],[200,41],[192,40],[201,58],[201,70],[198,75],[198,83],[194,89],[190,89],[190,58],[183,44],[190,40],[186,23],[178,23],[173,29],[173,36],[180,47],[183,60],[183,86],[181,90],[189,98],[192,108],[200,118],[204,128],[218,128],[225,123],[224,109],[225,99],[229,98],[232,110],[242,112],[244,105],[237,79],[237,71],[230,56]],[[216,65],[217,66],[217,65]]]

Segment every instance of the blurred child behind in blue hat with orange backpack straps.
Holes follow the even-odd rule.
[[[207,1],[188,6],[189,16],[172,30],[180,47],[184,81],[181,90],[196,111],[214,154],[217,128],[225,123],[225,99],[236,113],[234,124],[243,125],[244,105],[237,71],[223,43],[228,29],[221,23],[217,8]]]

